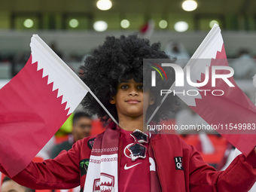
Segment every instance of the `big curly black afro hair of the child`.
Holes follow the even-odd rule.
[[[148,39],[139,38],[136,34],[127,37],[121,35],[120,38],[107,36],[104,44],[93,50],[91,55],[85,59],[84,66],[81,66],[81,71],[83,72],[82,80],[116,120],[118,120],[117,109],[115,105],[110,104],[109,99],[117,93],[117,85],[123,80],[130,79],[134,79],[136,82],[151,82],[150,75],[143,76],[143,59],[169,59],[169,56],[160,50],[160,43],[150,44]],[[152,71],[149,67],[147,69]],[[168,75],[167,87],[175,79],[173,71],[168,72]],[[145,87],[144,84],[145,89],[150,89],[151,94],[156,98],[154,105],[148,107],[147,116],[150,116],[154,108],[160,105],[161,98],[158,96],[160,95],[160,87],[156,86],[152,89],[151,86]],[[175,105],[176,100],[174,96],[169,94],[165,102]],[[87,113],[96,114],[105,122],[110,120],[108,114],[90,93],[84,97],[81,104]],[[169,111],[173,111],[173,108],[164,108],[164,106],[161,106],[161,114],[154,116],[153,120],[155,122],[168,116]]]

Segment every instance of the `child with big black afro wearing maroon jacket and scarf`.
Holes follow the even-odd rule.
[[[30,163],[12,179],[35,189],[81,185],[81,192],[247,192],[256,181],[254,151],[246,158],[239,155],[224,172],[217,172],[178,136],[143,132],[145,121],[162,100],[158,83],[168,89],[175,79],[169,70],[168,81],[157,79],[157,86],[151,87],[147,84],[151,76],[143,75],[143,59],[173,62],[160,50],[160,43],[150,44],[137,35],[108,36],[85,60],[82,79],[118,125],[88,93],[82,105],[108,123],[105,132],[79,140],[53,160]],[[150,64],[145,65],[145,71],[151,71]],[[167,117],[177,105],[175,97],[169,95],[165,102],[171,105],[163,103],[161,114],[151,123]],[[0,170],[6,173],[1,165]]]

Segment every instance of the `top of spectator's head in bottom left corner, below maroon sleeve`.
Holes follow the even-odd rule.
[[[23,187],[20,184],[17,184],[17,182],[11,180],[11,178],[5,177],[2,186],[1,186],[2,192],[35,192],[33,189],[29,189],[28,187]]]

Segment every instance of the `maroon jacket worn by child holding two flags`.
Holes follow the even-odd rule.
[[[87,173],[84,163],[89,162],[95,137],[90,136],[76,142],[71,150],[62,151],[54,160],[30,163],[14,176],[14,181],[34,189],[67,189],[81,185],[83,190]],[[224,172],[216,172],[212,166],[203,162],[193,146],[187,145],[178,136],[157,134],[151,140],[151,146],[162,191],[247,192],[256,181],[254,151],[246,158],[242,154],[236,157]],[[0,171],[7,175],[2,166]]]

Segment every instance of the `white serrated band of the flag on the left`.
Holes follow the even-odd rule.
[[[90,90],[78,75],[66,65],[38,35],[33,35],[30,44],[32,63],[38,62],[38,70],[43,69],[43,77],[48,75],[48,84],[53,82],[53,90],[58,89],[62,103],[67,102],[71,114]]]

